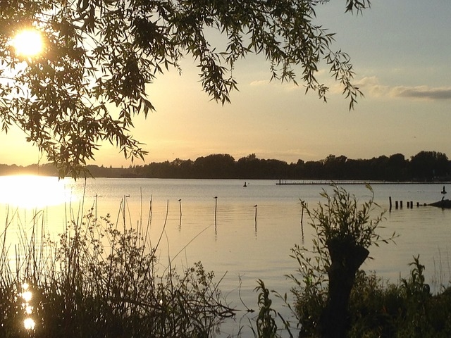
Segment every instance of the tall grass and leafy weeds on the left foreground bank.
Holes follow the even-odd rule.
[[[18,225],[14,246],[6,218],[0,337],[214,337],[235,314],[202,263],[179,270],[159,261],[149,223],[118,226],[94,208],[70,211],[51,238],[37,216]]]

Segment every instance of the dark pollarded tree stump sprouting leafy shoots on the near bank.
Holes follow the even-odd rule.
[[[373,190],[366,186],[371,194]],[[326,204],[311,211],[303,208],[314,228],[313,249],[295,246],[292,256],[299,263],[295,308],[304,336],[345,337],[349,325],[348,302],[359,266],[371,244],[388,242],[376,232],[383,213],[370,218],[376,204],[373,196],[359,206],[355,196],[333,186],[333,194],[321,193]]]

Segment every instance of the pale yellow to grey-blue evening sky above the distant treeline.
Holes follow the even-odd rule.
[[[239,91],[222,106],[202,92],[189,58],[183,74],[160,75],[147,94],[156,107],[137,117],[132,134],[149,151],[134,164],[230,154],[297,162],[332,154],[373,158],[440,151],[451,158],[451,1],[373,0],[362,15],[344,13],[345,0],[318,6],[316,23],[335,32],[332,49],[350,54],[354,83],[364,97],[354,110],[342,88],[320,70],[330,87],[323,103],[305,87],[270,82],[264,56],[239,61]],[[298,70],[298,74],[302,70]],[[0,134],[0,163],[45,162],[16,130]],[[101,145],[97,165],[128,166],[119,150]]]

